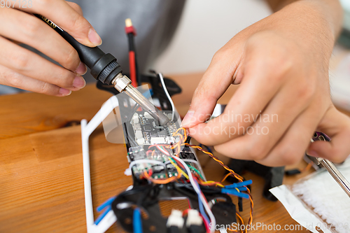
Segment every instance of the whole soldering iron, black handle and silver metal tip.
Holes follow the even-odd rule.
[[[98,46],[94,48],[87,47],[76,41],[73,36],[57,26],[54,22],[42,15],[34,14],[39,19],[46,22],[52,29],[55,29],[66,41],[68,41],[73,48],[76,49],[83,62],[90,68],[92,76],[102,83],[113,85],[118,92],[125,92],[129,97],[134,99],[145,111],[158,120],[160,125],[172,127],[169,118],[156,108],[151,101],[144,97],[135,87],[131,85],[131,80],[123,75],[120,64],[118,64],[116,57],[110,53],[104,53]]]

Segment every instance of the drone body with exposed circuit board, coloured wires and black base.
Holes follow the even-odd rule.
[[[120,98],[118,99],[120,102],[125,102],[122,99],[123,96],[118,97],[117,95],[117,98]],[[168,106],[170,105],[168,104]],[[216,223],[231,224],[235,222],[235,204],[232,203],[230,196],[221,192],[221,188],[207,186],[212,181],[205,180],[193,148],[184,145],[187,134],[186,129],[179,129],[181,124],[179,118],[172,122],[172,127],[162,126],[138,106],[120,106],[120,115],[124,115],[123,107],[128,108],[126,110],[127,122],[123,125],[123,129],[129,151],[127,156],[130,161],[130,168],[125,171],[125,174],[132,175],[134,188],[118,195],[112,204],[112,209],[116,213],[120,225],[127,232],[132,232],[132,223],[128,222],[127,218],[131,219],[132,217],[130,216],[132,206],[139,206],[151,216],[151,218],[142,219],[142,228],[145,233],[151,233],[149,229],[153,226],[157,229],[155,232],[169,232],[169,230],[172,230],[170,232],[180,230],[184,233],[206,232],[209,225],[204,225],[198,211],[193,212],[196,213],[193,216],[185,218],[180,216],[179,212],[177,216],[174,213],[175,219],[187,221],[188,226],[176,225],[177,220],[173,221],[173,217],[164,218],[161,215],[158,200],[183,197],[189,200],[191,209],[200,209],[203,206],[209,216],[206,223],[214,223],[215,225]],[[130,113],[130,109],[132,109],[132,113]],[[200,186],[194,185],[195,176],[197,176]],[[198,190],[201,188],[202,191]],[[224,189],[224,191],[234,192],[230,188]],[[200,192],[203,192],[203,195],[198,195]],[[224,201],[213,202],[218,198]],[[209,207],[208,202],[213,205]],[[118,206],[125,207],[118,208]],[[167,225],[167,223],[169,224]],[[181,225],[183,227],[179,228]],[[209,232],[209,229],[207,231]],[[210,231],[212,232],[212,230]]]

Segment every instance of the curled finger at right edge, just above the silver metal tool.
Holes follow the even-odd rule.
[[[350,154],[350,118],[331,106],[318,125],[318,130],[330,136],[331,141],[315,141],[307,148],[307,154],[323,157],[332,162],[344,162]]]

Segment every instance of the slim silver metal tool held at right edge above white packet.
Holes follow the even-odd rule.
[[[314,137],[311,139],[311,142],[314,141],[330,141],[330,138],[321,132],[315,132]],[[335,165],[332,162],[330,162],[329,160],[322,159],[321,157],[313,157],[309,155],[307,155],[307,157],[309,157],[309,159],[316,165],[321,164],[323,167],[325,167],[325,169],[327,169],[327,171],[329,172],[330,176],[332,176],[332,178],[334,178],[335,181],[337,181],[337,183],[340,185],[340,187],[342,187],[344,192],[346,192],[346,194],[350,197],[349,181],[346,180],[346,178],[340,173],[340,171],[337,169],[337,167],[335,167]]]

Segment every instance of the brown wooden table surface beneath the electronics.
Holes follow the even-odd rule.
[[[182,94],[174,96],[181,115],[186,114],[201,76],[171,76],[183,88]],[[235,88],[230,87],[219,102],[227,103]],[[94,85],[63,98],[35,93],[0,97],[0,232],[86,232],[78,123],[84,118],[91,120],[109,97],[111,94]],[[124,175],[126,155],[124,145],[106,141],[101,126],[90,137],[94,209],[132,185],[130,176]],[[202,153],[197,155],[207,178],[219,181],[224,174],[221,165]],[[228,158],[216,155],[228,162]],[[304,166],[304,162],[297,165]],[[306,174],[285,178],[284,182],[293,183]],[[250,173],[244,177],[253,179],[254,223],[282,227],[297,224],[280,202],[262,197],[262,178]],[[248,204],[244,201],[241,213],[245,222]],[[121,230],[114,225],[108,232]]]

